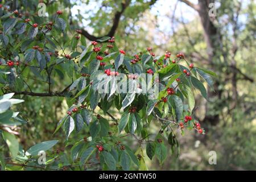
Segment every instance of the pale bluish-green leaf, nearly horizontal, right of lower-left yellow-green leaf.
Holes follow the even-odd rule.
[[[38,155],[38,152],[40,151],[47,151],[49,149],[51,149],[53,146],[55,146],[55,144],[59,142],[58,140],[49,140],[46,142],[42,142],[42,143],[38,143],[35,144],[34,146],[30,147],[27,152],[28,154],[32,155],[32,156],[36,156]]]

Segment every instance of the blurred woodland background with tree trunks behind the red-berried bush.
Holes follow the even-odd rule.
[[[32,1],[31,1],[32,2]],[[256,3],[253,0],[115,0],[43,1],[46,12],[61,9],[69,26],[82,29],[88,43],[100,36],[115,36],[129,53],[152,47],[156,55],[184,52],[190,62],[217,73],[209,100],[196,96],[196,118],[206,135],[186,131],[179,136],[180,156],[171,153],[162,167],[147,158],[152,170],[255,170],[256,169]],[[37,5],[38,1],[31,3]],[[213,4],[211,4],[213,3]],[[31,5],[30,5],[31,6]],[[68,83],[68,82],[67,82]],[[65,80],[63,83],[67,84]],[[205,85],[207,86],[207,85]],[[34,88],[43,85],[34,82]],[[56,85],[57,87],[57,85]],[[36,91],[36,90],[35,90]],[[62,98],[23,98],[20,111],[29,120],[23,127],[24,148],[52,137],[67,104]],[[118,113],[114,110],[112,114]],[[151,124],[151,133],[158,126]],[[84,134],[72,134],[73,139]],[[60,146],[63,147],[63,146]],[[208,163],[216,151],[217,164]]]

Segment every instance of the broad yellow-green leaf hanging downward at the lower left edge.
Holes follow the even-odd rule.
[[[7,143],[7,146],[9,147],[11,156],[13,156],[13,158],[15,159],[19,151],[18,139],[16,139],[15,135],[10,134],[6,131],[2,131],[2,134],[3,134],[3,139]]]

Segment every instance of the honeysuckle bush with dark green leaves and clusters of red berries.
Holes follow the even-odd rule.
[[[16,122],[23,120],[15,121],[14,114],[14,121],[9,121],[2,115],[11,111],[3,111],[0,131],[7,146],[15,146],[15,150],[10,147],[11,162],[5,163],[6,156],[2,156],[3,168],[145,170],[146,157],[157,158],[162,165],[168,151],[179,155],[177,134],[188,130],[205,134],[193,117],[194,90],[207,100],[203,81],[212,87],[216,75],[190,63],[184,53],[172,50],[177,54],[167,51],[158,56],[148,47],[129,54],[117,47],[114,37],[86,45],[81,30],[71,28],[62,11],[39,18],[2,6],[0,14],[0,81],[5,94],[1,98],[9,99],[10,93],[64,97],[69,107],[52,137],[64,132],[67,152],[49,152],[63,138],[24,150],[13,137],[15,133],[2,127],[8,121],[16,130]],[[28,84],[31,77],[41,81],[44,92],[34,91]],[[120,117],[110,113],[113,109]],[[151,122],[159,125],[159,131],[151,132]],[[70,139],[79,133],[84,138]],[[39,151],[48,151],[46,163],[37,160]]]

